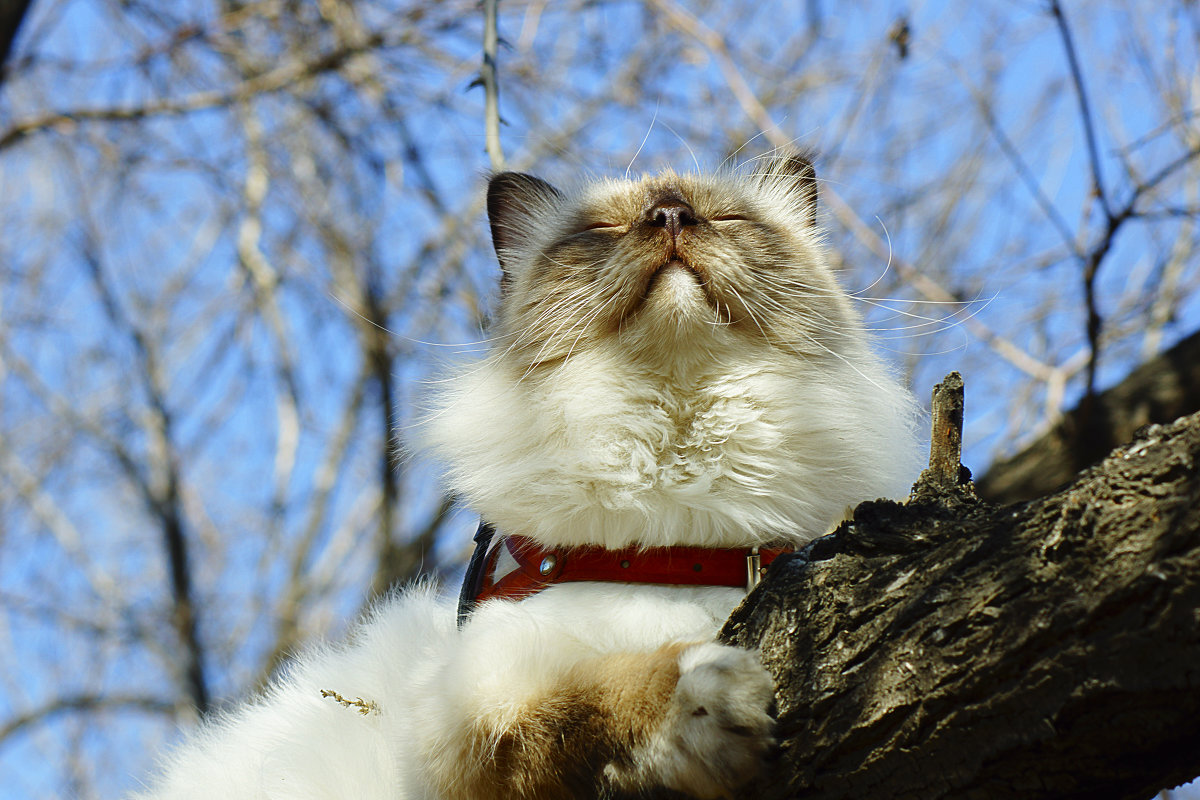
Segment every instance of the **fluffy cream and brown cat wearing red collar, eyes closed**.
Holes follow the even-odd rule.
[[[718,573],[752,584],[918,468],[916,405],[828,266],[817,194],[796,154],[572,191],[494,175],[491,349],[416,437],[497,531],[460,614],[395,594],[138,796],[709,799],[754,778],[774,688],[713,640],[746,591]]]

